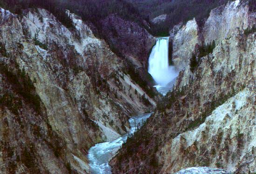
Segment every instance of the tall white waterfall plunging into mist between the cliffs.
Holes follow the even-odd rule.
[[[174,66],[169,66],[168,47],[169,37],[157,38],[148,60],[148,72],[157,83],[155,87],[163,95],[172,88],[172,82],[178,76]]]

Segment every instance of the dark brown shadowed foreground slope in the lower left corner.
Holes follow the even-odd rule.
[[[68,161],[74,161],[64,138],[49,124],[33,82],[2,63],[0,73],[1,173],[69,173]]]

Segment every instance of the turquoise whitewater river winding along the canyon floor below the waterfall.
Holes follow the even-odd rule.
[[[147,113],[130,118],[131,129],[129,133],[134,133],[135,125],[138,125],[138,123],[142,124],[151,114],[152,113]],[[89,149],[88,159],[90,161],[90,174],[112,174],[108,162],[127,140],[127,136],[128,134],[125,134],[116,140],[98,143]]]

